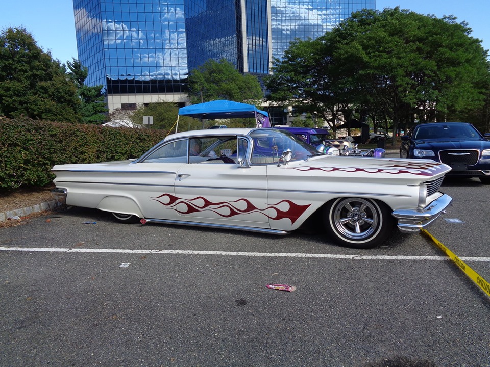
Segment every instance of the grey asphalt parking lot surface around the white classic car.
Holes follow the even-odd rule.
[[[460,222],[429,232],[489,280],[488,186],[441,190]],[[354,250],[72,208],[0,247],[0,365],[490,365],[490,298],[421,234]]]

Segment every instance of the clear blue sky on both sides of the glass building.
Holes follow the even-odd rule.
[[[488,0],[376,0],[376,9],[408,9],[419,14],[433,14],[437,18],[454,15],[457,22],[466,21],[473,29],[472,37],[482,40],[484,49],[490,49],[490,1]],[[44,51],[51,51],[62,63],[78,58],[75,19],[71,0],[3,0],[0,29],[25,27]]]

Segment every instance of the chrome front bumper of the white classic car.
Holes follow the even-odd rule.
[[[451,200],[452,198],[449,195],[444,194],[423,209],[399,209],[391,214],[398,219],[400,232],[415,233],[439,218],[441,214],[446,213],[445,209],[451,203]]]

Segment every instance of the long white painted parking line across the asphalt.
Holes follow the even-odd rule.
[[[234,251],[197,251],[197,250],[130,250],[130,249],[83,249],[83,248],[35,248],[35,247],[0,247],[0,251],[29,252],[100,252],[128,254],[163,254],[163,255],[223,255],[223,256],[262,256],[262,257],[316,257],[346,260],[448,260],[447,256],[388,256],[388,255],[337,255],[284,252],[234,252]],[[459,257],[464,261],[490,261],[490,257]]]

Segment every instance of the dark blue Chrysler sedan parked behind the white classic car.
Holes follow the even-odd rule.
[[[402,136],[400,158],[442,162],[452,168],[447,176],[478,177],[482,183],[490,183],[490,141],[466,122],[415,126]]]

